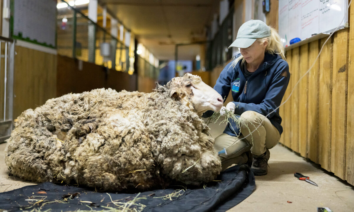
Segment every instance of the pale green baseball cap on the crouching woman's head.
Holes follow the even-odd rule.
[[[256,41],[257,38],[270,36],[270,28],[261,20],[249,20],[241,25],[237,32],[236,40],[229,46],[247,48]]]

